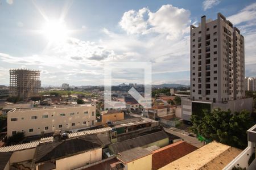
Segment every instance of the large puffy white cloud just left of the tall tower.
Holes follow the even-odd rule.
[[[119,25],[129,34],[166,34],[167,39],[177,39],[191,23],[189,10],[172,5],[163,5],[156,12],[148,8],[130,10],[123,14]]]

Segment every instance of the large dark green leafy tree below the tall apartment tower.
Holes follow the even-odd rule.
[[[193,133],[237,148],[247,146],[246,130],[253,126],[249,112],[231,114],[230,111],[213,109],[211,113],[204,110],[203,114],[192,114]]]

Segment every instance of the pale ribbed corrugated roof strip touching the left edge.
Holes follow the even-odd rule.
[[[0,152],[11,152],[11,151],[24,150],[24,149],[36,147],[38,145],[39,145],[39,141],[30,142],[30,143],[22,143],[19,145],[5,146],[5,147],[0,147]]]

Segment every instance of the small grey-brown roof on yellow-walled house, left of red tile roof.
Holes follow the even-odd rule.
[[[147,155],[151,155],[151,152],[142,147],[135,147],[130,150],[118,153],[117,159],[122,163],[127,164]]]

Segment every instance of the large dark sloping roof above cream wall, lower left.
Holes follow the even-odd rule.
[[[102,147],[96,134],[51,143],[42,143],[36,148],[35,163],[65,158],[93,148]]]

